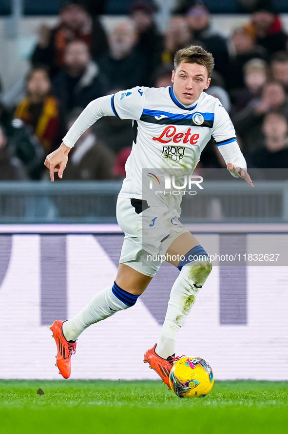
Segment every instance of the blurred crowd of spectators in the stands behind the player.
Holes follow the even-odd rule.
[[[67,2],[55,28],[39,29],[25,97],[15,107],[0,103],[0,180],[47,177],[45,156],[90,101],[136,85],[172,85],[174,54],[191,44],[213,54],[207,93],[230,113],[248,167],[288,168],[288,35],[271,1],[248,3],[250,20],[225,38],[195,0],[178,1],[164,33],[154,3],[135,1],[110,34],[89,2]],[[71,151],[64,179],[122,179],[133,137],[131,121],[100,119]],[[198,166],[225,167],[213,140]]]

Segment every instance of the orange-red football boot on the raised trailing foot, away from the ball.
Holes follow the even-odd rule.
[[[76,342],[67,342],[63,331],[62,324],[65,321],[54,321],[50,330],[53,331],[52,337],[54,337],[58,354],[56,356],[57,363],[55,366],[59,369],[59,374],[64,378],[69,378],[71,374],[71,356],[76,352]]]

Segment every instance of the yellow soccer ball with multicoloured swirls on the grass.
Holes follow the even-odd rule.
[[[180,398],[205,396],[213,387],[214,375],[209,364],[200,357],[183,357],[174,363],[169,383]]]

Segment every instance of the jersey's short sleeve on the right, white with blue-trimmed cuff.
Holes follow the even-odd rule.
[[[236,137],[230,116],[218,99],[215,103],[215,117],[211,135],[216,144]]]

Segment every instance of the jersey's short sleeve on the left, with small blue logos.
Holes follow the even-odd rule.
[[[115,116],[119,119],[138,121],[142,115],[145,103],[145,87],[133,87],[120,90],[111,97],[111,106]]]

